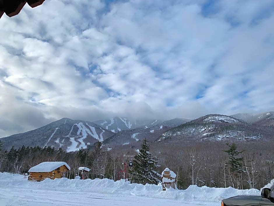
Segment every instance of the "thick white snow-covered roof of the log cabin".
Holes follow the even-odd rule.
[[[71,169],[66,162],[41,162],[40,164],[31,167],[29,172],[51,172],[63,165],[65,165],[68,170]]]

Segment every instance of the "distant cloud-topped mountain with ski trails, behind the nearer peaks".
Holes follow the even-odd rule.
[[[136,129],[138,127],[147,129],[166,120],[134,120],[131,121],[124,117],[110,118],[109,120],[97,120],[93,123],[100,125],[104,129],[112,132],[119,132],[123,130]]]

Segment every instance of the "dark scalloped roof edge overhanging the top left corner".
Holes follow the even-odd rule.
[[[45,0],[0,0],[0,18],[4,13],[9,17],[17,15],[26,3],[34,8],[43,4],[44,1]]]

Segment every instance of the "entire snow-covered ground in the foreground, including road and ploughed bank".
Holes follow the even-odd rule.
[[[109,179],[45,179],[30,182],[22,175],[0,173],[0,206],[214,206],[235,195],[260,195],[260,191],[190,186],[186,190],[129,184]]]

